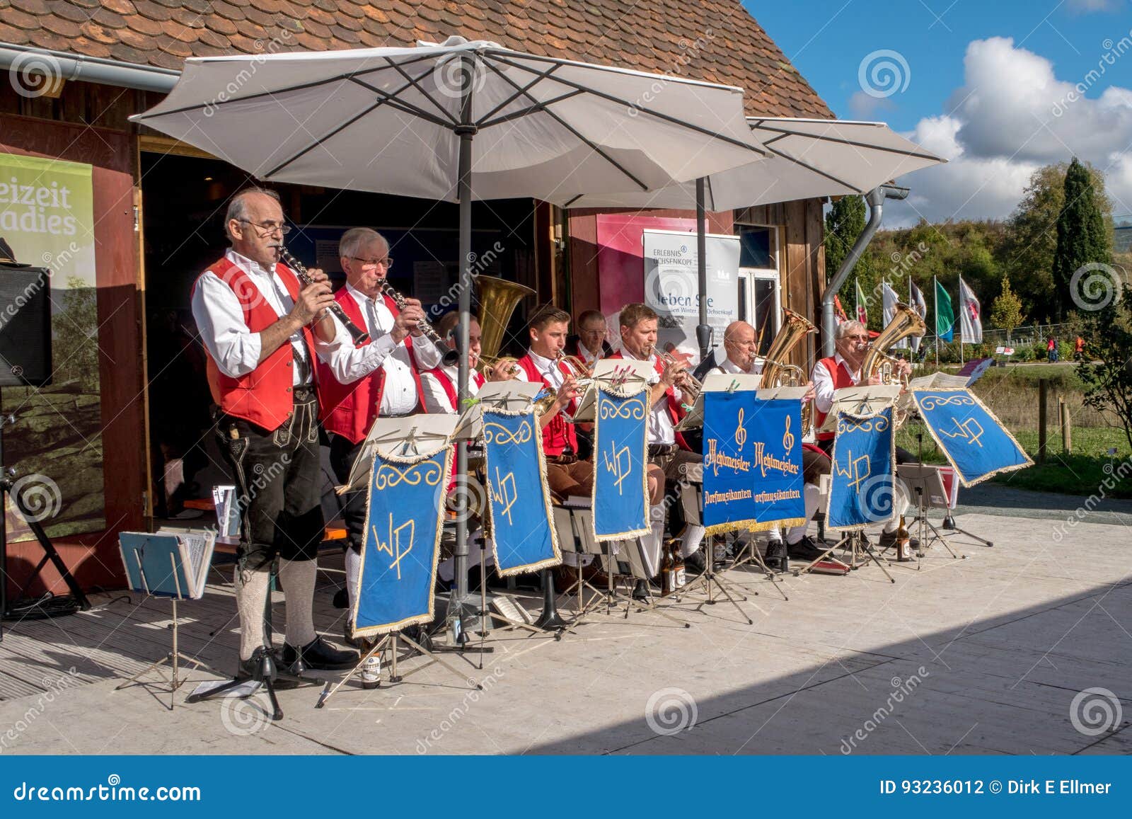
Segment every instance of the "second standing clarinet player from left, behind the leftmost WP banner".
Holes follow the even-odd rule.
[[[316,340],[318,398],[323,426],[331,435],[331,467],[345,484],[377,418],[424,411],[420,374],[439,367],[441,358],[435,344],[413,344],[423,333],[421,302],[406,298],[404,309],[398,309],[383,290],[393,267],[385,237],[369,228],[351,228],[338,241],[338,255],[346,283],[334,298],[354,325],[369,333],[369,340],[355,347],[346,329],[335,321],[334,340]],[[352,492],[345,500],[346,590],[352,605],[365,540],[366,493]],[[346,639],[352,641],[349,624]]]

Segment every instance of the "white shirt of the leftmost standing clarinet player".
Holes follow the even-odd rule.
[[[224,258],[248,274],[264,301],[275,310],[275,315],[282,318],[294,307],[294,299],[274,270],[260,267],[258,263],[245,258],[231,248],[224,251]],[[243,321],[243,307],[235,291],[213,271],[207,271],[197,281],[192,292],[192,317],[200,331],[200,340],[221,373],[239,378],[259,366],[259,352],[263,349],[259,333],[248,330]],[[312,368],[301,327],[291,334],[291,348],[295,359],[291,383],[294,386],[310,384]]]

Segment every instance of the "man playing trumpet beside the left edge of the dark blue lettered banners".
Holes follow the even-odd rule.
[[[659,570],[661,546],[664,531],[664,507],[679,503],[679,484],[681,480],[702,480],[703,458],[692,452],[684,436],[676,432],[687,410],[684,408],[681,384],[687,383],[687,365],[674,359],[666,364],[657,353],[657,314],[644,304],[626,305],[620,314],[621,349],[610,358],[650,361],[654,375],[650,379],[649,395],[649,461],[650,490],[652,481],[659,484],[663,475],[667,484],[667,495],[660,500],[659,487],[650,501],[649,519],[652,522],[651,549],[645,549],[645,560],[650,570]],[[684,467],[684,469],[681,469]],[[692,470],[688,477],[683,471]],[[704,539],[704,528],[698,523],[687,523],[680,538],[680,556],[685,565],[693,572],[702,572],[706,568],[701,545]],[[653,572],[655,573],[655,571]],[[638,589],[638,592],[643,591]],[[640,596],[634,592],[635,596]]]

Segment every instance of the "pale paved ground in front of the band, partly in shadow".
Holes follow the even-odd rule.
[[[984,488],[998,492],[964,495]],[[957,537],[966,560],[936,547],[920,571],[891,569],[895,583],[876,566],[791,578],[787,602],[732,572],[760,592],[743,604],[753,625],[729,604],[686,602],[668,612],[691,629],[655,614],[599,615],[561,642],[501,634],[482,671],[452,659],[483,692],[432,666],[393,688],[345,688],[321,710],[318,689],[283,692],[281,723],[256,699],[182,706],[179,696],[170,713],[156,685],[114,692],[164,651],[169,607],[103,597],[96,611],[8,631],[0,751],[1130,753],[1129,510],[1089,513],[1058,538],[1053,518],[1081,498],[1053,509],[1005,493],[1005,506],[968,505],[958,519],[993,548]],[[327,561],[327,585],[340,564]],[[204,600],[182,605],[182,642],[225,667],[237,635],[216,579]],[[334,635],[328,597],[317,622]]]

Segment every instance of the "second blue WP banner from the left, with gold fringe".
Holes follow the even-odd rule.
[[[506,577],[561,563],[534,411],[484,410],[483,455],[496,571]]]

